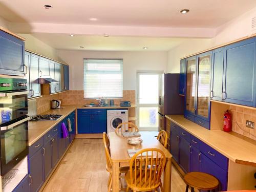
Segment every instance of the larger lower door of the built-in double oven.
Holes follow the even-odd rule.
[[[26,116],[1,124],[1,175],[9,172],[28,155],[28,120]]]

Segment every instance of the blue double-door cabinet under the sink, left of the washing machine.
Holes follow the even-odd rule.
[[[78,134],[106,132],[106,110],[78,109],[77,126]]]

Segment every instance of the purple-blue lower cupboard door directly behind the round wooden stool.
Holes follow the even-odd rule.
[[[219,190],[227,190],[227,174],[228,172],[218,166],[214,161],[211,161],[204,154],[201,154],[201,168],[200,171],[215,176],[219,182]]]

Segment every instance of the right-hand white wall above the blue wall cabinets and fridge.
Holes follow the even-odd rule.
[[[201,52],[212,47],[216,47],[227,42],[249,36],[251,33],[251,18],[256,17],[256,8],[232,19],[230,22],[220,26],[216,30],[216,36],[212,39],[187,40],[180,46],[168,52],[168,73],[180,71],[180,58],[197,52]]]

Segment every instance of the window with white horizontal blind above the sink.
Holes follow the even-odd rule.
[[[84,59],[84,98],[123,97],[123,59]]]

